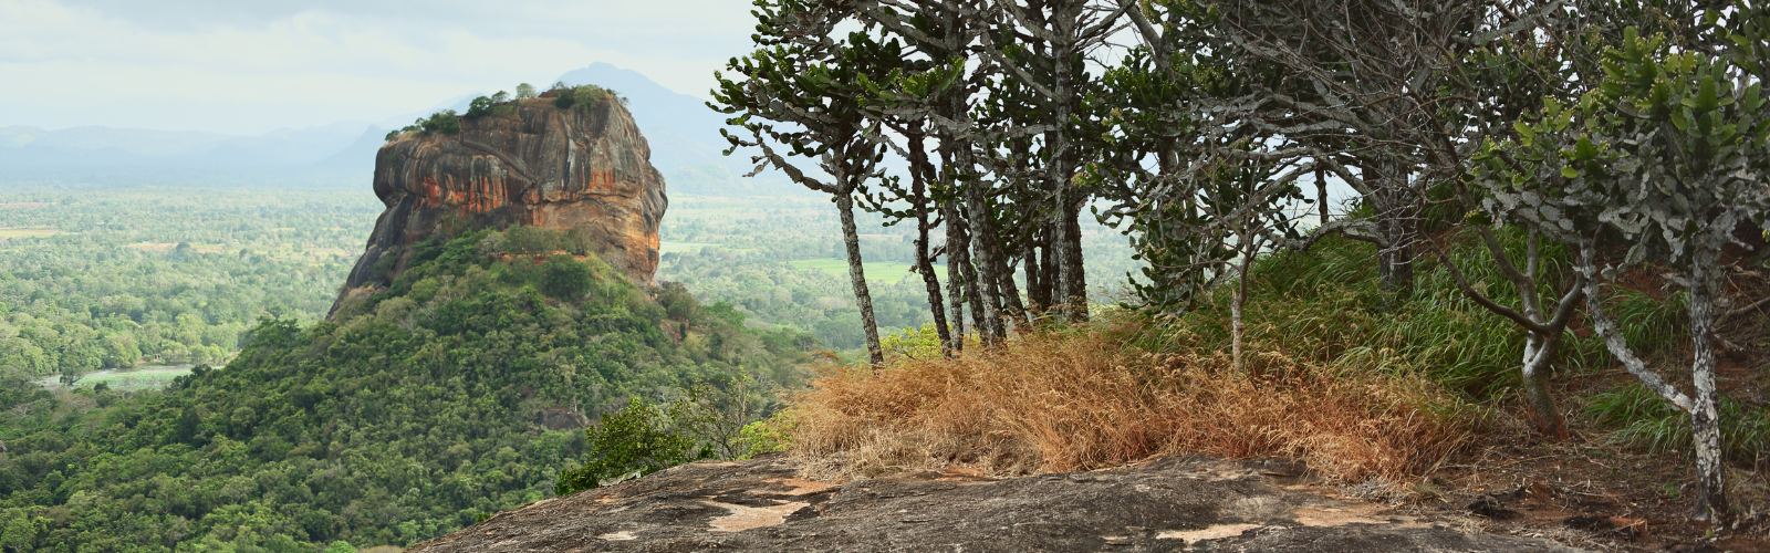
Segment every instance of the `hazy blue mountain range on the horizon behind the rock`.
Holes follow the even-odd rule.
[[[651,82],[639,71],[596,62],[568,71],[558,82],[600,85],[628,99],[628,110],[651,145],[651,165],[664,172],[673,193],[773,195],[791,193],[779,175],[742,179],[749,156],[724,156],[724,115],[706,101]],[[545,89],[547,83],[540,83]],[[466,112],[476,92],[442,101],[430,110],[379,122],[343,121],[303,129],[276,129],[258,136],[202,131],[158,131],[81,126],[44,131],[0,128],[0,181],[71,181],[85,184],[366,184],[375,151],[389,129],[437,110]]]

